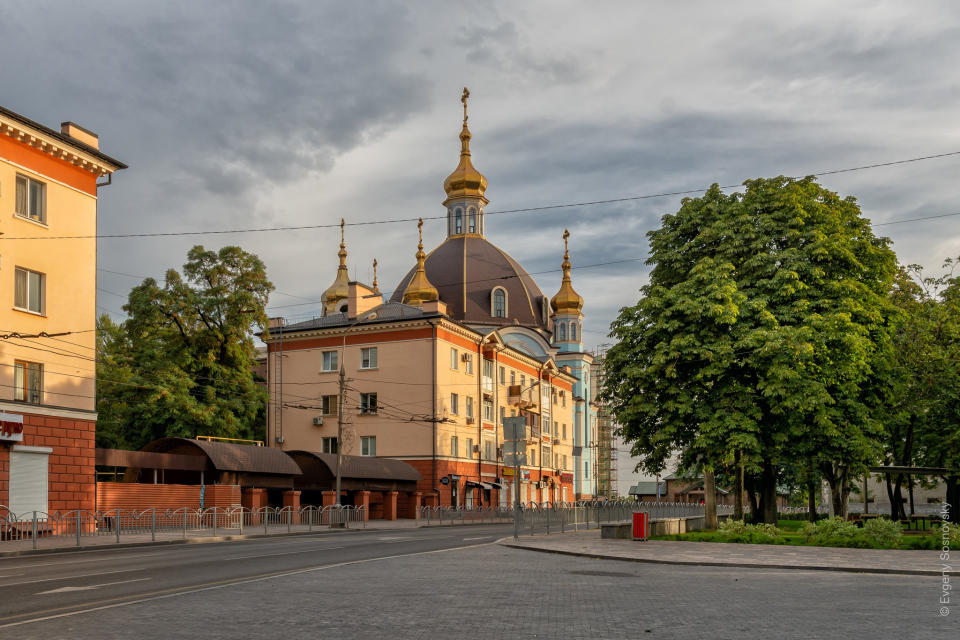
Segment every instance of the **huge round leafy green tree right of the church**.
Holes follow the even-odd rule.
[[[612,325],[603,395],[659,472],[737,459],[776,519],[778,465],[804,461],[845,508],[878,455],[867,389],[896,257],[853,198],[813,178],[714,185],[648,234],[654,266]]]

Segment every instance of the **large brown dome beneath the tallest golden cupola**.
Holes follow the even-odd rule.
[[[447,238],[430,252],[427,278],[440,292],[447,315],[466,324],[522,325],[549,331],[549,302],[516,260],[479,235]],[[407,284],[416,272],[410,270],[400,281],[391,302],[401,302]],[[493,316],[493,293],[506,292],[505,317]]]

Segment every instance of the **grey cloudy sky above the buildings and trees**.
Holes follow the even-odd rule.
[[[73,120],[130,168],[100,233],[443,215],[470,87],[489,211],[701,189],[960,150],[954,3],[5,2],[0,104]],[[905,263],[960,255],[960,156],[827,176]],[[487,237],[552,295],[575,267],[644,258],[679,197],[491,215]],[[102,239],[98,307],[195,243],[267,264],[270,312],[319,314],[338,234]],[[425,242],[444,227],[428,221]],[[64,241],[68,242],[68,241]],[[348,227],[351,276],[413,263],[413,223]],[[636,301],[642,261],[580,268],[587,342]],[[543,273],[541,273],[543,272]],[[128,275],[120,275],[128,274]]]

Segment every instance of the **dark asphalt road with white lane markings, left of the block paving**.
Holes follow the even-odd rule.
[[[269,576],[490,543],[512,525],[349,530],[0,558],[0,637],[24,622]],[[22,636],[19,636],[22,637]]]

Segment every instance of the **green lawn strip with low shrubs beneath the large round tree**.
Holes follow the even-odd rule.
[[[838,536],[821,536],[819,540],[809,540],[801,534],[804,525],[802,520],[778,520],[779,535],[771,536],[762,531],[753,531],[746,527],[747,532],[731,534],[729,531],[693,531],[690,533],[654,536],[652,540],[686,540],[690,542],[726,542],[726,543],[755,543],[755,544],[783,544],[792,546],[826,546],[826,547],[858,547],[867,549],[939,549],[942,546],[942,537],[939,530],[904,531],[903,536],[894,543],[880,544],[868,539],[863,529],[854,531],[852,526],[844,526],[844,532]]]

